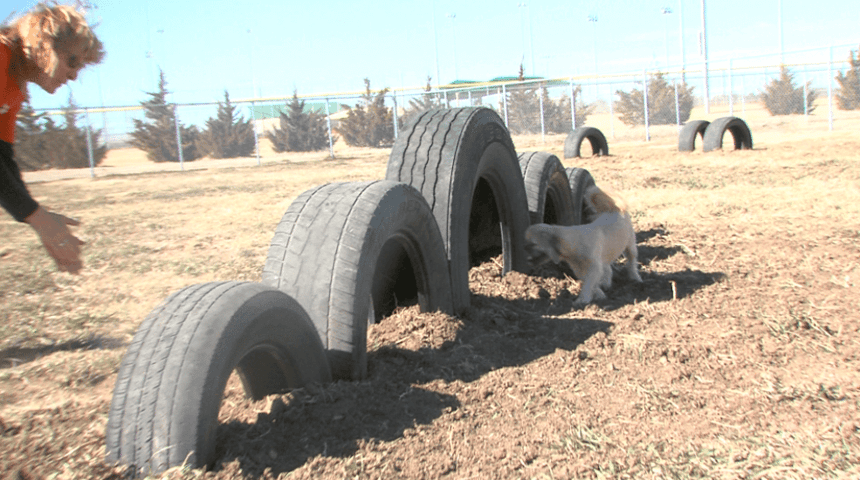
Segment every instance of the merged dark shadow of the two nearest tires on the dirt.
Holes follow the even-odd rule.
[[[568,296],[557,302],[473,295],[453,340],[417,350],[387,343],[368,352],[366,380],[297,389],[275,397],[270,411],[254,423],[219,425],[215,469],[235,468],[231,462],[238,461],[245,475],[278,476],[318,456],[347,458],[366,443],[413,435],[461,408],[458,396],[416,385],[474,382],[558,349],[575,350],[594,334],[609,332],[609,322],[554,318],[575,298]]]

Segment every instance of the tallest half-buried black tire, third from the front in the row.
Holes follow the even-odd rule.
[[[499,253],[526,272],[523,175],[504,122],[485,107],[423,112],[394,142],[385,177],[417,188],[448,253],[454,309],[471,302],[469,269]]]

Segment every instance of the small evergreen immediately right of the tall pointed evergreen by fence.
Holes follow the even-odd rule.
[[[254,126],[239,116],[225,90],[224,103],[218,102],[218,113],[197,138],[197,151],[212,158],[250,157],[255,146]]]

